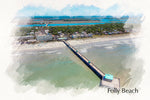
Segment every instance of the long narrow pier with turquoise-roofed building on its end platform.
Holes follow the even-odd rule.
[[[112,77],[110,74],[105,74],[98,67],[96,67],[90,60],[83,56],[77,49],[71,46],[67,41],[62,40],[64,44],[100,78],[100,86],[109,88],[120,88],[120,79]],[[111,78],[110,78],[111,77]],[[108,78],[108,79],[107,79]]]

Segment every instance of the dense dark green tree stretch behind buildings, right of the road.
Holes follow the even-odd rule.
[[[58,26],[58,27],[48,27],[50,33],[57,35],[59,31],[65,34],[73,34],[74,32],[81,33],[85,31],[87,33],[99,33],[102,35],[103,31],[112,32],[114,30],[124,32],[124,24],[122,23],[111,23],[111,24],[99,24],[90,26]]]

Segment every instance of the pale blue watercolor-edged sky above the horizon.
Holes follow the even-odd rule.
[[[20,9],[16,16],[122,16],[140,15],[141,12],[126,11],[119,4],[105,7],[85,4],[68,4],[61,9],[52,6],[26,5]]]

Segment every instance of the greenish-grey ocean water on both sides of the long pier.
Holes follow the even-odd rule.
[[[121,87],[139,84],[143,73],[142,61],[133,56],[137,51],[133,40],[96,42],[74,47],[104,73],[119,77]],[[36,86],[45,81],[49,88],[92,89],[100,84],[100,79],[67,47],[20,52],[13,57],[12,66],[18,65],[15,69],[19,76],[17,82],[23,86]]]

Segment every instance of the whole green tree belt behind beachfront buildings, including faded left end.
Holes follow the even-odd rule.
[[[58,35],[58,32],[65,33],[67,35],[73,34],[74,32],[87,32],[87,33],[93,33],[98,35],[103,35],[103,31],[112,32],[114,30],[116,31],[122,31],[124,32],[123,23],[107,23],[107,24],[98,24],[98,25],[88,25],[88,26],[45,26],[43,29],[48,29],[50,33],[53,35]],[[17,36],[24,36],[27,35],[27,33],[34,30],[40,31],[41,28],[36,29],[36,27],[21,27],[16,31]]]

